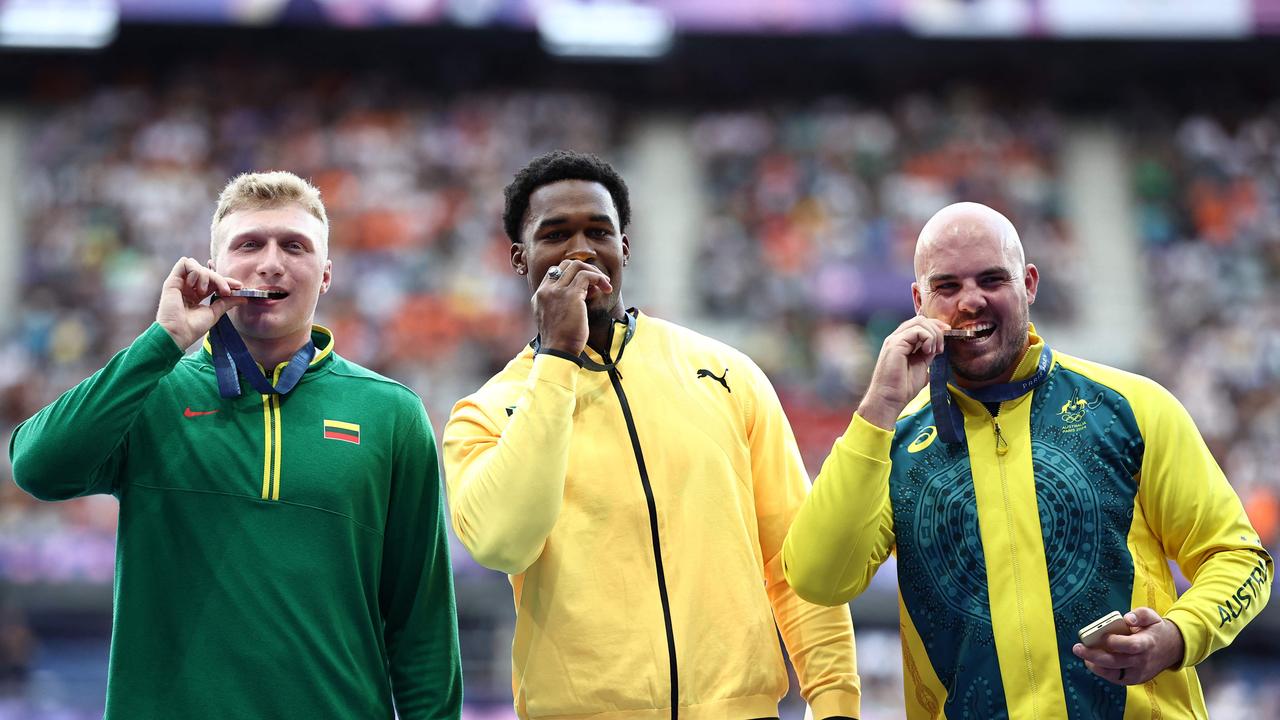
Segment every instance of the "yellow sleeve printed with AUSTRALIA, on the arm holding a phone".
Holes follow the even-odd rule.
[[[1138,502],[1192,587],[1165,612],[1183,633],[1183,666],[1230,644],[1266,606],[1274,566],[1187,410],[1151,383],[1133,398],[1146,446]]]

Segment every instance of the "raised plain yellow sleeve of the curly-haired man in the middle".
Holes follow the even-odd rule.
[[[444,428],[453,529],[485,568],[524,573],[556,527],[564,501],[577,373],[568,360],[538,355],[504,428],[472,398],[453,407]]]

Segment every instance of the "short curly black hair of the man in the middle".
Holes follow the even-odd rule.
[[[618,223],[622,224],[618,231],[623,232],[631,224],[631,196],[627,183],[613,165],[590,152],[553,150],[530,160],[502,191],[507,199],[502,210],[502,227],[511,242],[521,242],[520,229],[525,224],[525,213],[529,211],[529,196],[544,184],[566,179],[603,184],[613,199],[613,208],[618,211]]]

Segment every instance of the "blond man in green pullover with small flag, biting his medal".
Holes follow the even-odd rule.
[[[174,265],[156,324],[10,442],[36,497],[119,498],[106,717],[458,717],[431,428],[311,324],[332,278],[319,192],[241,176],[211,250]],[[215,363],[224,313],[275,391],[239,392],[246,365]]]

